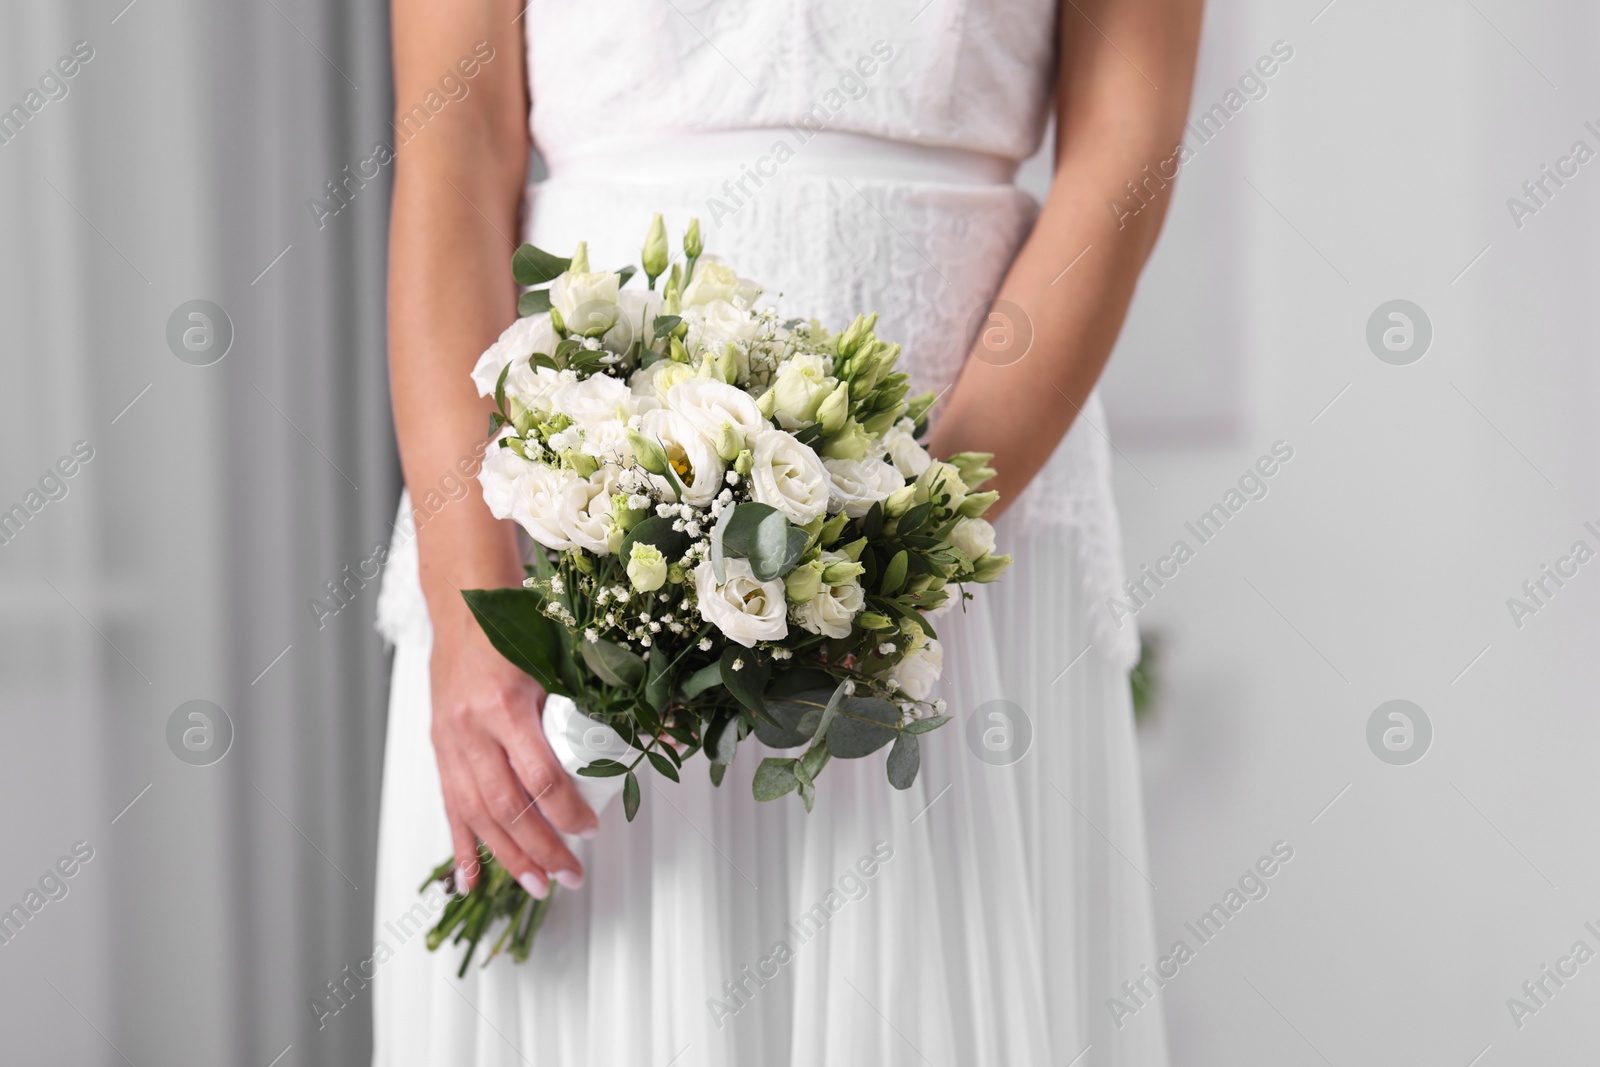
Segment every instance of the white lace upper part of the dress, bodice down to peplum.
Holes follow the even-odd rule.
[[[675,234],[698,216],[786,310],[878,312],[915,389],[955,381],[1038,210],[1011,178],[1048,120],[1054,0],[533,0],[523,19],[549,168],[528,240],[622,264],[651,213]],[[1101,424],[1091,397],[1006,523],[1072,528],[1096,605],[1122,582]],[[1130,661],[1131,627],[1094,622]]]

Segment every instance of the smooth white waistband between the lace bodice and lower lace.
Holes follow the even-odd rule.
[[[989,152],[914,144],[842,130],[762,126],[595,138],[542,150],[547,181],[662,182],[778,176],[909,184],[1008,186],[1016,162]]]

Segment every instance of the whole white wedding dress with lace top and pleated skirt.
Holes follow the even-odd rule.
[[[699,216],[786,309],[877,310],[917,389],[955,379],[1037,213],[1010,179],[1046,122],[1050,0],[534,0],[523,21],[550,168],[528,240],[621,266],[653,211],[674,235]],[[1163,1067],[1160,1003],[1122,1025],[1107,1008],[1158,953],[1098,426],[1091,398],[998,523],[1016,566],[939,619],[957,721],[910,790],[878,753],[830,763],[810,814],[760,805],[754,741],[720,790],[699,760],[651,776],[634,824],[611,805],[578,845],[586,886],[558,891],[533,958],[461,981],[459,949],[414,933],[450,835],[402,504],[374,1064]]]

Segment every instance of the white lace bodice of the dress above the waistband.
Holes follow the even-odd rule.
[[[1043,134],[1053,0],[533,0],[547,158],[662,131],[822,122],[1019,163]]]

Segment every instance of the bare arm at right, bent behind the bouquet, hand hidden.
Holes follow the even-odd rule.
[[[1122,330],[1173,189],[1150,181],[1136,214],[1107,202],[1138,206],[1125,182],[1174,170],[1166,160],[1189,110],[1200,13],[1202,0],[1062,3],[1056,178],[997,298],[1026,315],[1032,347],[1000,366],[1013,357],[986,352],[979,338],[930,442],[936,456],[995,454],[990,517],[1050,459]]]

